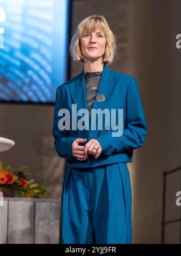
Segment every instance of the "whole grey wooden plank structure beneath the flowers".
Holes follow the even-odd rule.
[[[59,225],[60,200],[4,197],[0,206],[1,244],[60,243]]]

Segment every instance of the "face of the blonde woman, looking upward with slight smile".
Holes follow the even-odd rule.
[[[103,58],[106,48],[106,38],[100,30],[84,33],[80,39],[81,52],[86,59]]]

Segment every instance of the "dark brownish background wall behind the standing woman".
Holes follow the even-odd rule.
[[[133,243],[160,243],[162,171],[180,160],[180,0],[74,0],[72,34],[81,19],[104,15],[116,36],[118,59],[109,67],[135,76],[148,124],[148,136],[129,163],[133,193]],[[71,36],[72,36],[71,34]],[[83,66],[71,62],[71,77]],[[16,142],[1,153],[5,166],[27,165],[37,182],[59,199],[65,159],[54,150],[51,134],[54,106],[0,104],[0,136]],[[175,193],[180,176],[168,182],[167,220],[179,217]],[[166,242],[179,242],[179,224],[168,225]]]

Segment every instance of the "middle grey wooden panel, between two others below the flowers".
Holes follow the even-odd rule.
[[[9,202],[8,243],[34,243],[34,202]]]

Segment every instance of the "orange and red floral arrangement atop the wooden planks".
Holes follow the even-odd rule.
[[[28,179],[30,172],[25,173],[24,170],[28,166],[22,166],[14,171],[11,166],[4,168],[0,161],[0,191],[4,197],[36,197],[42,199],[45,192],[52,195],[52,192],[45,188],[46,183],[39,185],[34,183],[34,179]]]

